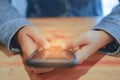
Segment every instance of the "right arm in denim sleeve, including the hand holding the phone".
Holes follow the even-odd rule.
[[[92,30],[67,41],[62,47],[64,49],[78,47],[76,56],[80,63],[98,50],[111,55],[118,53],[120,51],[120,4]]]

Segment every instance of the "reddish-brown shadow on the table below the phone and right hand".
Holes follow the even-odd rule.
[[[84,63],[78,64],[76,67],[55,69],[52,72],[43,74],[35,74],[27,67],[25,68],[31,80],[79,80],[103,57],[104,54],[93,54],[91,57],[85,60]]]

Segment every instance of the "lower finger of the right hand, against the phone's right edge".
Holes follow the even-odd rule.
[[[76,52],[76,57],[79,61],[79,63],[82,63],[84,60],[86,60],[89,56],[91,56],[97,49],[93,47],[92,45],[87,45],[82,47]]]

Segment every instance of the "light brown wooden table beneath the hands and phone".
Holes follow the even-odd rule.
[[[48,40],[72,38],[91,29],[100,18],[41,18],[30,19]],[[120,80],[120,55],[109,56],[96,52],[74,68],[56,69],[34,74],[0,44],[0,80]]]

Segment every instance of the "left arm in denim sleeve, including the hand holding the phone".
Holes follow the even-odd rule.
[[[21,16],[10,5],[10,0],[0,0],[0,41],[11,51],[23,52],[26,59],[38,46],[49,46],[37,27]],[[18,45],[19,44],[19,45]],[[35,73],[50,72],[51,69],[32,68]]]

